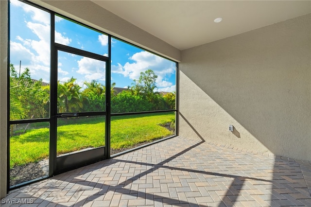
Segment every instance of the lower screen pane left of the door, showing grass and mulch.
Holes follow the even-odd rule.
[[[49,174],[49,122],[10,125],[10,186]]]

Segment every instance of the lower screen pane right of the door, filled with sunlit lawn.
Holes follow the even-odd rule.
[[[111,117],[110,154],[113,155],[174,134],[174,112]]]

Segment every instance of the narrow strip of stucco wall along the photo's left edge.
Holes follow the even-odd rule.
[[[0,0],[0,198],[6,196],[7,6],[8,2],[6,0]]]

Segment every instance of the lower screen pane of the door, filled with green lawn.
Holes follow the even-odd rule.
[[[57,119],[57,155],[105,145],[105,116]]]

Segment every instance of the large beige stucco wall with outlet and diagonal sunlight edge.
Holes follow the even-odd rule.
[[[182,51],[179,69],[179,135],[311,160],[311,14]]]

